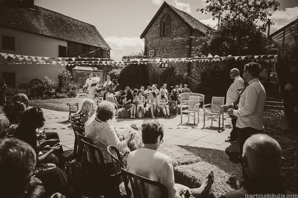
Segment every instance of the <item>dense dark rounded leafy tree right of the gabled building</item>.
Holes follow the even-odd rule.
[[[200,37],[197,54],[219,56],[256,55],[267,52],[268,39],[262,28],[250,20],[225,20],[218,31]]]

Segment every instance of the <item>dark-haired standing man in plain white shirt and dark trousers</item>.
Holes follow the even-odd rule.
[[[252,134],[262,133],[263,110],[266,103],[266,92],[264,86],[258,79],[261,67],[257,63],[249,63],[244,66],[243,79],[248,86],[240,96],[238,110],[229,110],[228,114],[237,116],[236,127],[239,134],[240,156],[243,152],[243,144],[245,140]],[[247,179],[247,175],[242,165],[243,179]]]

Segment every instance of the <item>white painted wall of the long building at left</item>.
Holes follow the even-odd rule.
[[[15,51],[1,49],[2,35],[13,36],[15,38]],[[0,26],[0,52],[3,53],[58,57],[59,45],[67,47],[67,41]],[[7,65],[5,63],[8,63],[8,61],[0,57],[0,75],[2,75],[2,72],[15,73],[16,87],[22,83],[29,85],[29,82],[35,78],[43,80],[45,75],[57,80],[59,70],[65,68],[65,66],[52,64]]]

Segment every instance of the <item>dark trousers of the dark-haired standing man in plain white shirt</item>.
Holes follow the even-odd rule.
[[[238,134],[239,134],[239,149],[240,149],[240,156],[242,156],[243,153],[243,144],[253,134],[256,133],[262,133],[263,130],[257,130],[251,127],[245,127],[245,128],[238,128]],[[242,175],[243,179],[248,179],[247,174],[245,173],[245,170],[243,168],[243,163],[241,161],[241,166],[242,166]]]

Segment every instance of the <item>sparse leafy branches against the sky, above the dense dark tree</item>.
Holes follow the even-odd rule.
[[[223,20],[243,18],[251,22],[261,21],[263,27],[273,24],[268,16],[272,15],[272,9],[275,11],[280,5],[277,0],[206,0],[206,3],[205,8],[197,11],[211,12],[214,18],[221,18],[225,13]]]

